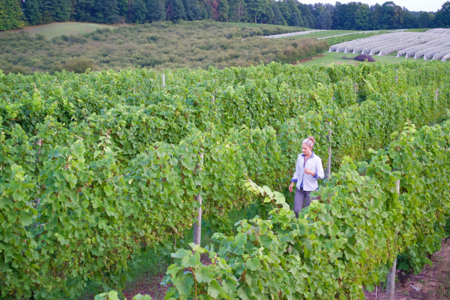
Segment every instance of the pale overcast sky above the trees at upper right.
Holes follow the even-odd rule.
[[[362,2],[365,4],[369,4],[370,5],[374,5],[375,3],[378,4],[383,4],[384,2],[386,2],[387,0],[381,0],[381,1],[377,1],[377,0],[354,0],[354,2]],[[444,2],[446,2],[447,0],[393,0],[393,2],[397,5],[400,5],[401,7],[405,6],[408,10],[410,11],[437,11],[438,9],[441,9],[442,4],[444,4]],[[333,1],[320,1],[320,0],[316,0],[316,1],[311,1],[311,0],[300,0],[300,2],[305,3],[305,4],[314,4],[317,2],[321,2],[321,3],[331,3],[331,4],[335,4],[336,0]],[[348,3],[348,2],[352,2],[352,1],[348,1],[348,0],[342,0],[339,1],[342,4],[343,3]]]

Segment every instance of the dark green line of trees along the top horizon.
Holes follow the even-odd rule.
[[[377,30],[450,27],[450,1],[414,12],[393,1],[368,5],[302,4],[297,0],[0,0],[0,30],[51,22],[145,23],[203,20]]]

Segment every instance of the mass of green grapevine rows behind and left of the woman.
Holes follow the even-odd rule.
[[[273,63],[174,70],[164,87],[145,69],[0,72],[2,297],[123,287],[142,250],[183,242],[197,193],[211,230],[229,233],[228,211],[251,197],[242,181],[286,188],[305,136],[324,161],[332,147],[337,170],[345,156],[369,159],[407,119],[440,122],[447,69]]]

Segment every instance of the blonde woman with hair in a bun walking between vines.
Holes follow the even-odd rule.
[[[297,157],[295,173],[292,176],[291,185],[289,186],[289,191],[292,192],[294,182],[297,183],[294,198],[294,213],[297,219],[298,213],[302,210],[303,202],[305,202],[305,207],[311,204],[311,191],[319,188],[317,179],[324,178],[322,160],[312,151],[314,143],[315,139],[312,136],[303,140],[303,153]]]

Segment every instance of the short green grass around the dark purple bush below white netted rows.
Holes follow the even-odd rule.
[[[324,53],[323,57],[318,57],[318,58],[313,58],[310,61],[306,61],[304,63],[301,63],[302,66],[314,66],[314,65],[320,65],[320,64],[324,64],[326,66],[335,63],[335,64],[340,64],[340,63],[358,63],[356,60],[351,60],[351,59],[342,59],[343,56],[346,56],[348,58],[351,57],[355,57],[359,54],[350,54],[350,53],[343,53],[343,52],[326,52]],[[396,52],[388,54],[386,56],[377,56],[377,55],[373,55],[372,57],[377,61],[377,62],[387,62],[387,63],[401,63],[404,62],[405,60],[408,61],[417,61],[419,63],[428,63],[429,61],[423,60],[422,58],[420,59],[413,59],[413,58],[405,58],[403,57],[395,57],[397,55]]]

